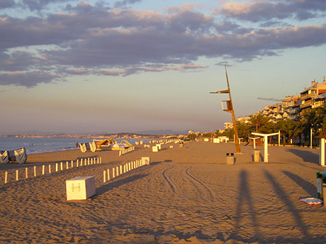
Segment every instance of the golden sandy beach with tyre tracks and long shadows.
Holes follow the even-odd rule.
[[[122,156],[69,150],[1,164],[0,243],[326,243],[326,207],[299,201],[317,197],[319,149],[271,146],[269,163],[253,163],[254,148],[241,145],[226,165],[234,143],[135,147]],[[146,156],[151,165],[103,182],[103,170]],[[42,165],[87,157],[102,164],[42,175]],[[66,200],[65,181],[77,176],[95,177],[91,199]]]

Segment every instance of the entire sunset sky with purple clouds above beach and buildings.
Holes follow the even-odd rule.
[[[210,132],[326,75],[325,0],[1,0],[0,133]]]

